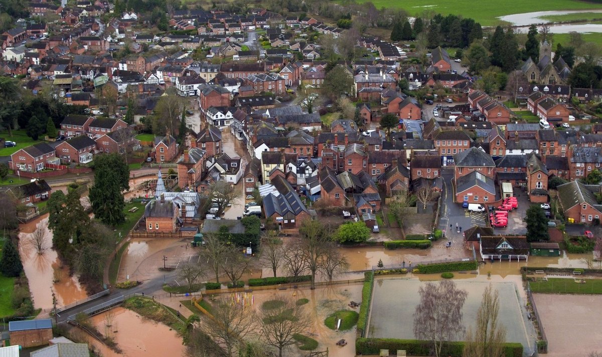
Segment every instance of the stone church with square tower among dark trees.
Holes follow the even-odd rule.
[[[521,71],[530,83],[566,84],[571,69],[562,57],[558,58],[555,63],[552,62],[552,59],[552,45],[544,41],[539,44],[539,62],[535,64],[529,57],[521,66]]]

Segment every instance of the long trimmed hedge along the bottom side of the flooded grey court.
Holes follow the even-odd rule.
[[[355,340],[355,352],[362,355],[378,355],[380,350],[406,350],[408,356],[429,356],[431,341],[421,340],[399,340],[397,338],[357,338]],[[461,357],[464,350],[464,342],[446,342],[441,349],[442,356]],[[506,357],[522,357],[523,345],[520,343],[504,344]]]

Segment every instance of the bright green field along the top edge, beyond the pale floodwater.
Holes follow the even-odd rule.
[[[368,0],[358,0],[367,2]],[[434,10],[435,13],[443,15],[456,14],[471,17],[483,26],[500,24],[498,16],[509,14],[530,13],[533,11],[551,10],[588,10],[602,8],[600,2],[586,2],[577,0],[548,0],[536,4],[532,1],[510,1],[510,0],[371,0],[376,8],[403,8],[411,16],[423,13],[424,10]]]

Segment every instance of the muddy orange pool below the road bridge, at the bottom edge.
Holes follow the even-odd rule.
[[[185,347],[175,330],[141,317],[125,308],[114,308],[92,317],[96,328],[110,334],[123,353],[118,354],[90,338],[104,357],[184,356]],[[109,323],[107,321],[110,321]],[[107,327],[110,324],[110,327]],[[143,333],[141,333],[143,332]]]

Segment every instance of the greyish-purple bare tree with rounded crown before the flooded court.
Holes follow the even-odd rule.
[[[444,341],[464,335],[462,306],[468,292],[456,288],[452,280],[426,283],[418,290],[420,303],[414,312],[414,335],[433,343],[435,356],[441,357]]]

